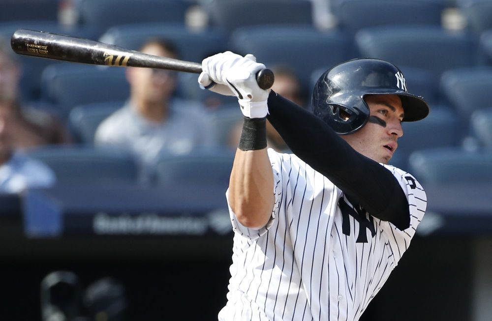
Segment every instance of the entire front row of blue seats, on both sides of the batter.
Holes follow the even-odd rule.
[[[61,186],[138,185],[138,166],[119,150],[92,147],[44,147],[29,155],[48,165]],[[224,149],[196,150],[186,155],[162,155],[155,166],[154,185],[228,186],[234,153]],[[492,184],[492,150],[459,147],[413,152],[409,171],[423,184]],[[142,185],[143,186],[143,185]]]

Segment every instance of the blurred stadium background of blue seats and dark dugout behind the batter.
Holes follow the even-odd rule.
[[[2,0],[0,35],[19,28],[128,49],[162,36],[191,61],[251,52],[291,65],[306,97],[346,59],[397,64],[431,115],[405,124],[393,163],[426,187],[429,211],[363,321],[492,319],[492,1]],[[120,282],[127,320],[215,320],[232,246],[232,151],[167,155],[143,184],[131,157],[92,146],[97,124],[127,98],[123,70],[21,61],[23,101],[60,117],[76,142],[29,151],[57,186],[0,196],[0,319],[42,320],[43,278],[71,271],[81,293],[102,277]],[[240,117],[234,100],[179,77],[176,95],[206,102],[224,142]]]

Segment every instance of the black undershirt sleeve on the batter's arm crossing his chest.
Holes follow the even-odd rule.
[[[370,215],[400,230],[410,226],[408,201],[389,170],[353,149],[320,118],[273,90],[268,110],[268,120],[294,154]]]

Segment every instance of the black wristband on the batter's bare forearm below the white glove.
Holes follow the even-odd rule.
[[[267,147],[267,117],[244,117],[243,132],[238,148],[241,150],[259,150]]]

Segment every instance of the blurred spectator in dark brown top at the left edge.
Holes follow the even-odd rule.
[[[0,39],[0,110],[4,131],[14,148],[70,142],[60,121],[52,115],[25,106],[20,100],[21,65],[4,39]]]

